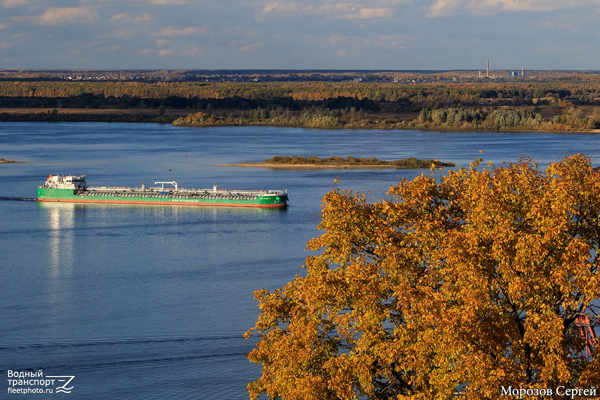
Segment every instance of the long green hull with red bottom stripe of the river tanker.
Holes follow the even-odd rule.
[[[118,196],[78,193],[70,189],[38,188],[38,201],[58,201],[64,203],[102,203],[102,204],[162,204],[178,206],[227,206],[227,207],[260,207],[274,208],[287,206],[287,194],[277,196],[235,196],[226,194],[209,194],[207,196],[186,197],[173,194],[118,193]]]

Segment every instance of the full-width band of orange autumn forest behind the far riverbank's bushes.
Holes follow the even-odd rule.
[[[35,99],[61,99],[62,102],[81,101],[80,106],[97,102],[110,103],[119,99],[130,103],[130,107],[150,106],[154,100],[171,102],[173,107],[197,107],[197,103],[220,101],[232,103],[223,107],[251,109],[264,101],[299,109],[318,104],[302,104],[304,101],[344,101],[367,100],[374,102],[386,111],[394,108],[404,111],[418,111],[433,108],[436,103],[442,106],[476,106],[493,103],[499,106],[550,105],[557,100],[569,100],[575,105],[600,105],[600,79],[590,77],[578,82],[479,82],[479,83],[357,83],[357,82],[0,82],[0,107],[10,107],[7,101],[36,101]],[[190,103],[190,100],[195,103]],[[142,101],[137,104],[136,101]],[[132,103],[133,102],[133,103]],[[177,104],[175,104],[177,103]],[[183,104],[185,103],[185,104]],[[244,107],[243,104],[247,106]],[[110,104],[106,104],[109,106]],[[155,106],[155,104],[153,104]],[[166,104],[163,104],[166,105]],[[330,108],[350,106],[333,106]],[[78,106],[78,107],[80,107]],[[205,104],[206,106],[206,104]],[[368,109],[367,104],[353,104],[357,108]],[[55,107],[55,106],[43,106]],[[56,106],[60,107],[60,106]],[[399,108],[400,107],[400,108]],[[203,107],[202,107],[203,108]],[[298,109],[298,107],[296,107]]]

